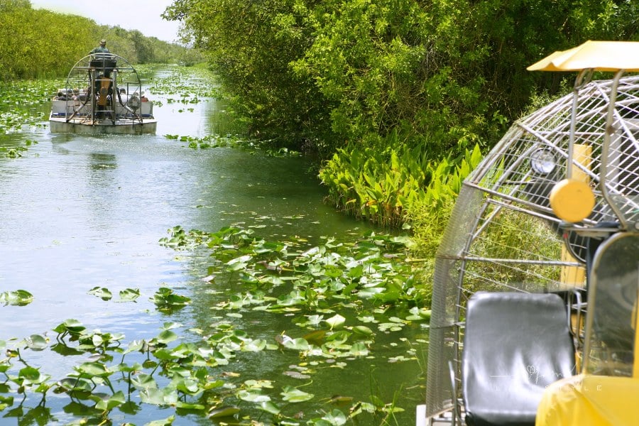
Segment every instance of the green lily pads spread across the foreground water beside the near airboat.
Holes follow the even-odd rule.
[[[314,381],[326,374],[340,376],[357,360],[382,356],[377,344],[381,335],[427,324],[430,311],[410,302],[419,291],[405,258],[410,240],[372,233],[353,243],[324,240],[308,247],[303,239],[266,241],[238,226],[212,233],[175,226],[160,244],[209,252],[209,266],[202,271],[207,275],[204,289],[226,284],[226,300],[208,307],[207,329],[167,321],[155,336],[126,342],[122,333],[89,330],[67,319],[53,328],[52,337],[34,334],[0,341],[6,354],[0,359],[0,412],[38,417],[38,424],[55,422],[46,404],[53,393],[56,399],[66,395],[63,410],[77,417],[72,424],[78,425],[112,424],[116,413],[132,415],[150,406],[175,411],[146,425],[171,424],[182,415],[234,425],[344,425],[356,417],[379,416],[381,421],[400,413],[404,408],[373,391],[368,400],[327,397],[330,390]],[[186,296],[160,287],[151,301],[167,315],[201,303],[201,290],[194,288]],[[114,302],[109,288],[94,287],[89,293]],[[127,288],[119,301],[134,302],[139,295],[138,289]],[[23,291],[0,294],[0,300],[15,304],[31,298]],[[268,337],[239,325],[239,320],[249,325],[262,315],[290,318],[289,327]],[[403,343],[400,338],[391,346]],[[66,376],[53,379],[26,356],[46,349],[78,356],[78,362]],[[241,367],[254,359],[251,354],[297,361],[283,364],[281,379],[251,377]],[[386,362],[416,360],[416,350],[408,344]],[[40,402],[28,408],[26,401],[33,407],[34,399]],[[315,410],[304,419],[309,404]]]

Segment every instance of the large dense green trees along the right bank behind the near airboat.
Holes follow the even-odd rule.
[[[557,92],[565,77],[525,67],[589,38],[636,38],[637,7],[630,0],[175,0],[165,15],[182,21],[207,53],[253,133],[326,158],[337,152],[322,180],[334,204],[359,211],[375,200],[349,193],[361,193],[358,185],[375,192],[360,179],[371,173],[338,177],[343,160],[353,165],[374,153],[381,157],[373,175],[383,175],[396,158],[436,169],[476,145],[485,151],[533,95]],[[423,167],[403,160],[396,167],[415,185],[429,184]]]

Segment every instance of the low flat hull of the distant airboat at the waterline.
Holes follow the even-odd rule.
[[[155,133],[158,121],[155,119],[139,120],[111,120],[95,121],[85,119],[72,119],[67,121],[64,117],[49,119],[51,133],[105,133],[105,134],[146,134]]]

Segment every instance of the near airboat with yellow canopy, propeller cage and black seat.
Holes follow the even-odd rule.
[[[417,425],[639,425],[639,43],[578,72],[464,181],[436,256]],[[596,80],[614,72],[610,80]]]

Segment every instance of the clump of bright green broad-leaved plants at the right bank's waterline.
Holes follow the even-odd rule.
[[[461,182],[479,164],[479,146],[464,158],[433,163],[420,148],[376,151],[373,148],[339,149],[322,170],[327,201],[354,217],[388,227],[402,226],[415,204],[425,202],[437,210],[442,200],[459,193]]]

